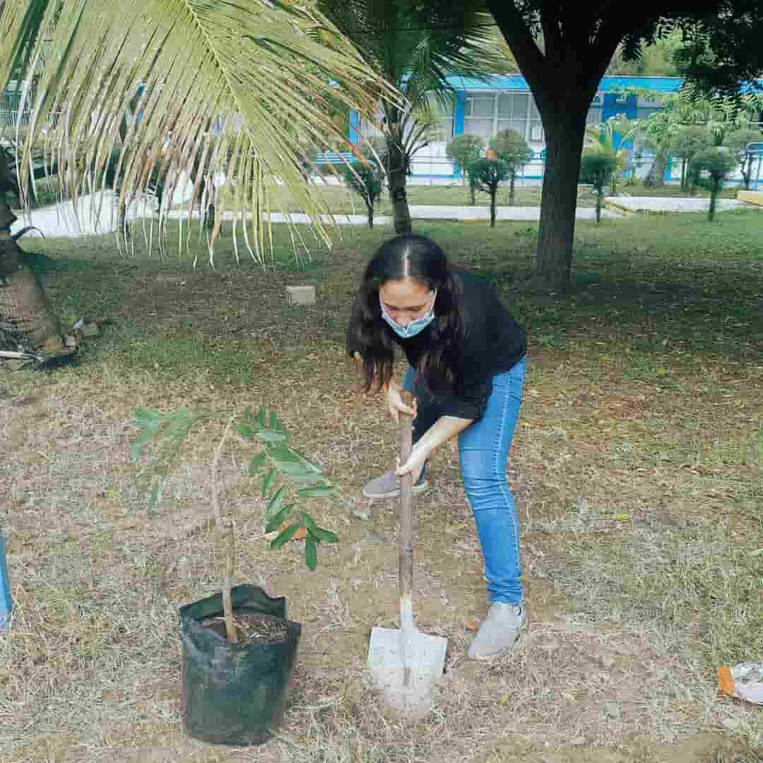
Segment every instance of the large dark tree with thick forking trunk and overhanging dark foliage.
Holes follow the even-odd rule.
[[[534,281],[567,288],[586,116],[614,53],[620,48],[623,60],[638,60],[645,47],[674,29],[687,44],[704,35],[703,43],[717,52],[716,69],[724,70],[716,82],[724,79],[736,89],[763,72],[763,6],[757,0],[646,2],[624,13],[620,5],[600,2],[488,0],[488,8],[530,85],[546,132]],[[743,36],[735,41],[740,27]],[[707,73],[693,60],[684,71],[691,77]]]

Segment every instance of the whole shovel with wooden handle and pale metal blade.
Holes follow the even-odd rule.
[[[406,405],[413,404],[403,392]],[[400,414],[401,463],[410,456],[412,417]],[[420,633],[414,623],[411,588],[414,578],[414,522],[411,510],[413,477],[401,478],[400,497],[400,630],[374,628],[369,645],[369,670],[373,685],[396,710],[424,715],[431,704],[430,688],[443,677],[448,640]]]

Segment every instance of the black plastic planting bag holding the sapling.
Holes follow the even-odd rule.
[[[239,585],[231,599],[234,612],[285,620],[288,636],[239,645],[202,626],[222,613],[222,594],[181,607],[183,729],[203,742],[259,745],[283,719],[301,625],[286,620],[284,597],[273,599],[257,586]]]

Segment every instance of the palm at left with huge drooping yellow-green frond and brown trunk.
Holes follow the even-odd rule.
[[[317,27],[336,35],[331,49],[314,39]],[[120,208],[146,191],[159,168],[171,199],[196,165],[190,209],[202,185],[214,192],[208,181],[222,171],[234,190],[214,192],[211,243],[226,206],[236,216],[248,212],[247,246],[263,264],[269,233],[262,211],[276,187],[278,198],[284,189],[291,193],[294,207],[310,214],[330,243],[320,223],[326,203],[304,182],[302,139],[329,147],[331,136],[349,147],[345,130],[326,116],[332,105],[371,118],[379,98],[398,97],[330,21],[291,4],[5,0],[0,32],[0,85],[11,76],[28,83],[19,107],[29,106],[31,114],[23,136],[22,194],[39,146],[47,166],[56,166],[63,193],[75,201],[107,187],[117,150]],[[125,130],[128,109],[140,118]],[[10,235],[14,219],[0,192],[0,330],[36,348],[63,349],[55,317]]]

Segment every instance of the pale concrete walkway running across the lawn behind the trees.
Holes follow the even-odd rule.
[[[93,196],[85,195],[79,198],[79,203],[75,209],[71,201],[63,204],[53,204],[50,207],[34,209],[28,214],[24,214],[11,227],[11,233],[16,233],[26,225],[34,225],[39,228],[46,237],[50,238],[76,238],[83,236],[95,236],[103,233],[111,233],[117,226],[117,215],[115,212],[116,196],[111,191],[95,195],[98,199],[98,206],[94,208]],[[651,212],[701,212],[707,211],[709,201],[705,198],[662,198],[662,197],[628,197],[617,196],[607,198],[606,200],[614,209],[602,210],[602,215],[608,219],[619,219],[624,214],[634,214],[639,211]],[[143,201],[140,204],[132,204],[127,211],[129,220],[137,220],[141,217],[150,217],[156,214],[154,204],[151,201]],[[720,199],[718,202],[719,211],[727,209],[736,209],[740,207],[752,208],[750,204],[743,201],[731,199]],[[410,206],[410,216],[414,220],[456,220],[462,222],[485,222],[490,219],[490,209],[488,207],[449,207],[449,206],[424,206],[421,204],[412,204]],[[172,211],[169,213],[172,219],[182,217],[185,219],[185,211]],[[198,218],[198,212],[194,212],[194,217]],[[307,214],[291,214],[291,221],[295,224],[306,224],[310,222]],[[539,207],[498,207],[496,210],[498,220],[516,220],[537,222],[540,219]],[[579,207],[576,212],[578,220],[594,220],[596,211],[592,208]],[[233,215],[228,212],[224,215],[225,220],[232,220]],[[275,212],[270,215],[274,223],[283,223],[287,220],[287,215]],[[365,214],[337,214],[334,220],[340,225],[365,226],[367,219]],[[330,219],[324,217],[324,222],[329,223]],[[391,217],[381,215],[375,217],[377,225],[390,225]],[[35,235],[31,233],[30,235]]]

